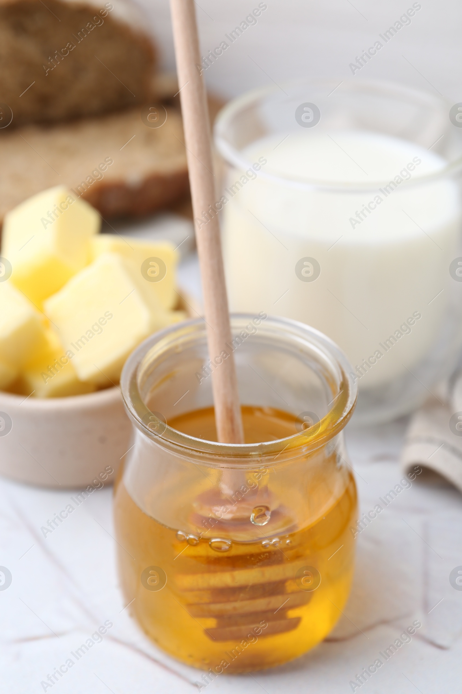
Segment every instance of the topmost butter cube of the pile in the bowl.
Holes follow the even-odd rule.
[[[91,260],[89,239],[100,216],[64,186],[28,198],[6,214],[1,255],[11,281],[37,307]]]

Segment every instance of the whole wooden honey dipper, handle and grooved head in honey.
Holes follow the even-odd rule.
[[[201,57],[194,1],[170,0],[170,8],[193,214],[195,219],[199,219],[204,210],[215,209],[216,198],[206,90],[202,71],[199,69]],[[196,226],[195,233],[204,294],[208,353],[213,359],[223,350],[226,351],[226,342],[231,343],[217,214],[212,214],[211,219],[200,228]],[[218,441],[244,443],[236,366],[232,354],[213,371],[212,390]],[[244,483],[244,471],[224,470],[220,482],[221,493],[226,498]],[[202,501],[204,515],[198,514],[198,525],[200,518],[209,517],[206,513],[208,502],[206,499]],[[256,500],[249,502],[250,499],[238,505],[237,513],[228,521],[230,530],[233,523],[236,523],[236,527],[245,522],[251,523],[252,506],[257,503]],[[259,502],[261,504],[261,498]],[[213,506],[213,498],[209,505]],[[242,551],[249,554],[249,548]],[[299,625],[299,617],[286,616],[287,609],[299,607],[310,600],[310,593],[301,591],[294,581],[298,567],[284,563],[285,554],[274,545],[271,545],[270,550],[262,545],[261,550],[255,552],[254,549],[253,552],[254,561],[249,568],[236,570],[231,568],[234,562],[230,561],[228,570],[225,568],[213,573],[180,574],[175,578],[177,589],[184,596],[186,609],[190,614],[215,618],[216,626],[205,629],[208,637],[213,640],[229,641],[239,638],[262,621],[268,623],[264,634],[290,631]],[[225,555],[222,559],[225,559]],[[285,608],[278,611],[283,603]]]

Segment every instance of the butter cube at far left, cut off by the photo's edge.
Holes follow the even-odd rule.
[[[0,359],[20,369],[46,349],[41,314],[9,280],[0,282]]]

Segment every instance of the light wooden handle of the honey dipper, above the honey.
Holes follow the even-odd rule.
[[[204,212],[210,218],[201,225],[195,222],[195,232],[204,294],[208,353],[212,360],[221,355],[222,362],[213,369],[212,374],[218,441],[244,443],[236,366],[233,353],[226,347],[226,343],[231,344],[231,328],[224,284],[220,226],[215,210],[211,133],[201,74],[194,2],[170,0],[170,8],[193,214],[195,220],[200,219]],[[222,352],[226,352],[228,356],[223,358]]]

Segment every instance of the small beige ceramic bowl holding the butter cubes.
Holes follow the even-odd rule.
[[[182,294],[177,308],[199,315]],[[100,487],[116,477],[132,445],[118,387],[69,398],[0,391],[0,475],[51,489]]]

